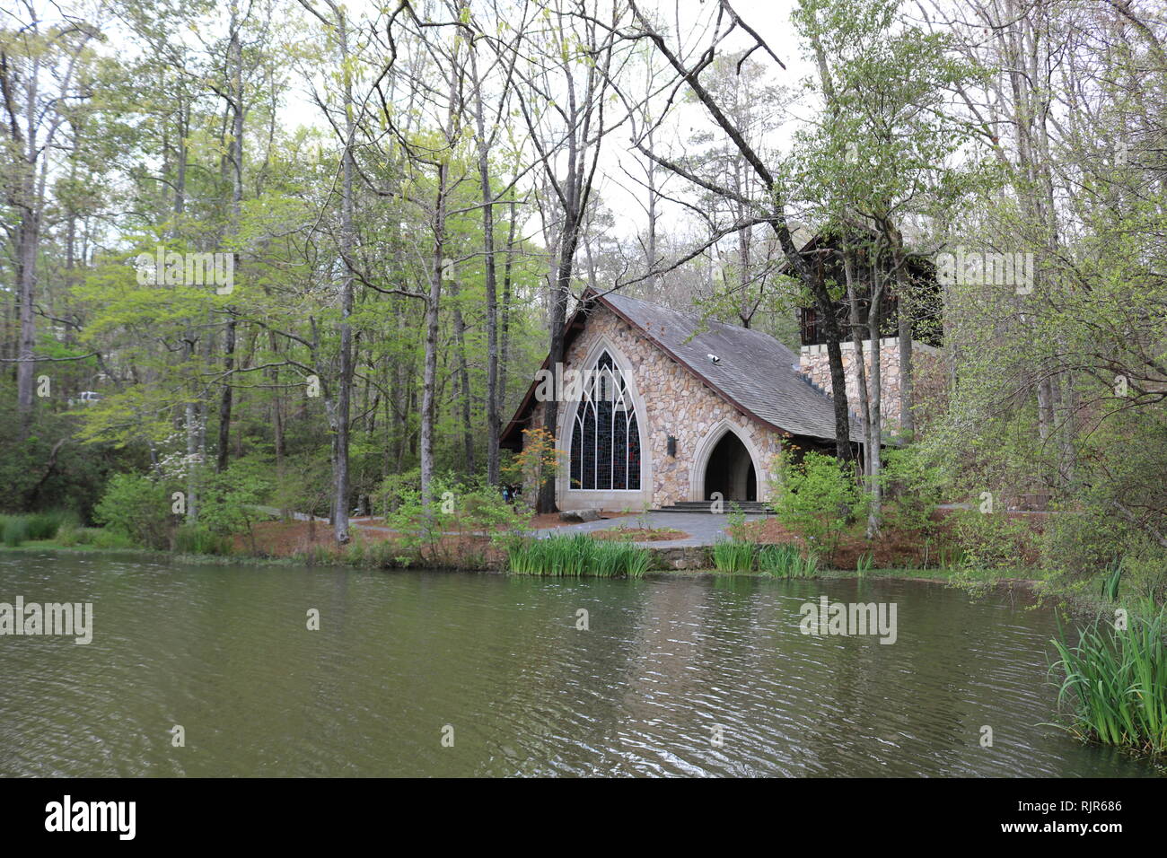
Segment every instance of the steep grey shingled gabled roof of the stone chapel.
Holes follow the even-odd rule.
[[[834,439],[834,403],[798,372],[798,356],[769,334],[680,313],[616,293],[588,291],[567,323],[567,344],[591,309],[605,306],[745,416],[767,426],[823,440]],[[566,348],[566,346],[565,346]],[[708,355],[717,355],[713,363]],[[543,363],[548,367],[547,361]],[[503,433],[517,446],[533,405],[534,383]],[[851,438],[860,441],[852,425]]]

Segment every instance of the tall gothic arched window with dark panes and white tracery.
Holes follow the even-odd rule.
[[[624,376],[607,351],[585,377],[572,432],[573,489],[641,488],[641,431]]]

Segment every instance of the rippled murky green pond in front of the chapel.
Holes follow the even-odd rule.
[[[802,634],[824,595],[895,642]],[[0,554],[16,597],[92,642],[0,637],[5,776],[1154,774],[1043,725],[1050,611],[938,584]]]

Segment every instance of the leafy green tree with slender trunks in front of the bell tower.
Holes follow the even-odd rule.
[[[882,512],[879,341],[893,292],[900,299],[901,418],[911,431],[913,332],[902,229],[911,218],[946,219],[976,189],[977,177],[974,155],[955,163],[970,134],[948,100],[949,92],[972,82],[974,69],[953,56],[944,36],[902,21],[899,6],[899,0],[803,0],[794,16],[815,60],[813,86],[824,113],[817,126],[797,134],[785,181],[798,189],[798,202],[819,229],[841,237],[868,452],[868,538],[879,532]],[[866,281],[866,330],[859,327],[859,268]]]

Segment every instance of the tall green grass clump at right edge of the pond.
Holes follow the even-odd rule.
[[[1058,628],[1053,670],[1065,679],[1057,695],[1074,712],[1072,730],[1104,745],[1161,754],[1167,751],[1167,608],[1147,601],[1126,629],[1109,623],[1078,630],[1074,646]]]

